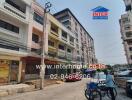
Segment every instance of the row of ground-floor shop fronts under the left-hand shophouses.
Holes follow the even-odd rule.
[[[69,62],[56,59],[45,59],[44,62],[46,65],[45,78],[47,79],[50,78],[51,74],[60,76],[76,72],[76,69],[64,68]],[[0,84],[21,83],[27,80],[39,79],[40,68],[40,57],[0,56]]]

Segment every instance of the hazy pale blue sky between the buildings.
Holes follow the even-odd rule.
[[[42,5],[50,1],[51,13],[69,8],[95,42],[99,63],[124,64],[125,52],[121,40],[119,19],[125,13],[123,0],[38,0]],[[108,20],[93,20],[92,9],[103,6],[109,9]]]

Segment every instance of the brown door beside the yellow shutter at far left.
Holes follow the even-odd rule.
[[[18,80],[19,61],[11,61],[10,64],[10,82],[17,82]]]

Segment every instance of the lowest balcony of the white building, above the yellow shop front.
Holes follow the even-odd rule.
[[[18,41],[8,38],[0,38],[0,53],[5,55],[25,56],[28,53],[28,47]]]

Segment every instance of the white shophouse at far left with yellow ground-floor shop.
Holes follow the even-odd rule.
[[[20,82],[32,0],[0,0],[0,83]]]

